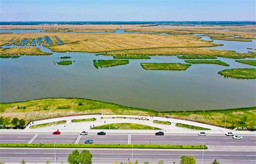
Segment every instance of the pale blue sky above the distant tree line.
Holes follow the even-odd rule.
[[[255,0],[0,0],[0,20],[255,21],[255,2]]]

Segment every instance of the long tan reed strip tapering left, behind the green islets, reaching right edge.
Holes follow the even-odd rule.
[[[128,51],[115,51],[106,52],[105,55],[109,56],[211,56],[211,57],[223,57],[232,59],[242,58],[255,58],[256,53],[237,53],[232,50],[219,50],[208,48],[196,48],[196,47],[183,47],[183,48],[154,48],[154,49],[138,49]]]

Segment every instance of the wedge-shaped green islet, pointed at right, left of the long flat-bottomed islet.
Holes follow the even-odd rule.
[[[94,60],[93,63],[96,68],[99,68],[99,66],[101,68],[104,68],[118,65],[126,65],[129,64],[129,60],[98,60],[98,62]]]

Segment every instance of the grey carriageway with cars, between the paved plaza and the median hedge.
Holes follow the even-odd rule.
[[[243,135],[242,140],[234,140],[232,136],[208,134],[207,136],[198,136],[197,134],[167,134],[164,136],[155,136],[154,134],[123,134],[107,133],[105,136],[97,136],[95,133],[82,135],[77,133],[62,133],[61,135],[52,135],[51,133],[28,133],[28,134],[0,134],[1,143],[80,143],[84,140],[92,139],[98,144],[183,144],[196,145],[202,142],[206,145],[222,146],[256,146],[255,135]]]

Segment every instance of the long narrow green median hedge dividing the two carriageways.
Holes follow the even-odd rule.
[[[51,143],[0,143],[0,147],[45,147]],[[157,144],[55,144],[57,148],[151,148],[151,149],[207,149],[206,145],[157,145]]]

